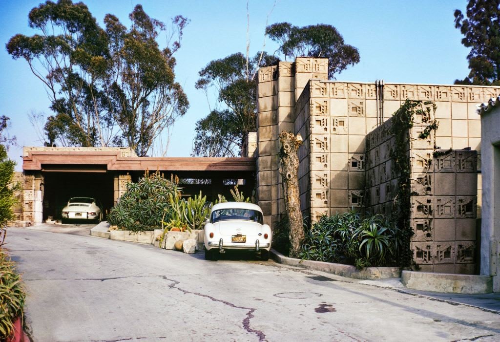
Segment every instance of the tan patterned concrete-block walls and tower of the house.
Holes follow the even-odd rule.
[[[272,225],[278,220],[279,214],[284,212],[278,174],[278,134],[281,129],[290,130],[293,127],[294,132],[300,133],[303,138],[303,145],[298,150],[298,176],[304,215],[317,219],[322,214],[349,209],[387,213],[392,210],[397,186],[397,175],[394,174],[389,157],[392,140],[388,134],[390,121],[387,120],[405,99],[432,101],[436,104],[435,113],[425,119],[436,119],[439,127],[435,134],[432,133],[425,139],[411,139],[408,153],[411,157],[412,177],[421,179],[422,184],[426,181],[435,182],[437,179],[439,185],[454,186],[457,192],[445,193],[448,190],[431,186],[430,190],[418,195],[423,197],[414,196],[414,210],[420,207],[417,203],[419,200],[426,203],[425,196],[435,196],[430,203],[433,212],[431,217],[413,214],[411,224],[414,230],[426,218],[431,218],[430,222],[437,222],[438,227],[446,226],[438,231],[435,230],[437,228],[433,226],[434,223],[427,224],[427,229],[433,231],[431,236],[427,236],[427,232],[418,231],[418,240],[415,239],[414,243],[432,242],[425,246],[422,244],[422,247],[431,250],[430,253],[439,261],[435,271],[473,272],[475,265],[470,259],[462,258],[463,262],[455,265],[459,263],[455,262],[458,255],[473,254],[473,248],[465,242],[456,244],[455,241],[475,240],[472,235],[475,232],[475,219],[480,217],[482,187],[481,128],[476,106],[500,93],[500,87],[329,81],[324,69],[325,61],[297,57],[294,63],[280,63],[278,66],[259,70],[257,193],[258,203],[264,208],[266,222]],[[281,71],[284,66],[286,71]],[[294,92],[289,87],[293,82]],[[386,123],[382,124],[383,122]],[[425,126],[423,118],[417,115],[415,125],[408,134],[416,137]],[[430,167],[439,162],[432,160],[434,145],[442,150],[470,147],[471,151],[451,153],[455,158],[453,172],[434,170]],[[472,152],[474,150],[477,153]],[[468,159],[477,157],[475,171],[458,170],[457,160],[465,154],[469,155]],[[466,184],[470,186],[467,185],[467,193],[460,193],[456,184],[465,181],[465,178]],[[412,186],[416,189],[420,184]],[[474,186],[472,193],[470,187]],[[472,202],[477,210],[474,210],[472,216],[459,217],[458,207],[463,200],[468,201],[463,196],[472,198],[474,195],[477,195],[477,199],[472,199]],[[441,197],[438,198],[439,196]],[[446,196],[453,197],[453,214],[441,217],[435,209]],[[437,256],[448,256],[448,251],[453,254],[453,262]],[[423,262],[421,264],[424,265]],[[423,268],[434,270],[434,260],[428,264],[432,266]]]

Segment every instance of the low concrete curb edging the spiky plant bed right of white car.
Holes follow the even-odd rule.
[[[399,267],[366,267],[359,270],[354,266],[341,263],[295,259],[284,256],[274,249],[271,249],[271,255],[276,262],[284,265],[314,269],[355,279],[398,278],[401,273]]]

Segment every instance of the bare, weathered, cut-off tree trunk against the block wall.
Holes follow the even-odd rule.
[[[300,135],[295,137],[293,133],[284,130],[279,134],[281,141],[279,173],[283,185],[284,205],[288,216],[290,256],[297,257],[300,246],[304,239],[304,228],[302,226],[302,212],[300,211],[300,192],[298,190],[298,156],[297,149],[302,144]]]

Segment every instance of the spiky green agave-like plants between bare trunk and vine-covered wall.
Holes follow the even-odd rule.
[[[399,265],[400,229],[382,215],[350,211],[322,216],[306,231],[301,257],[357,268]]]

